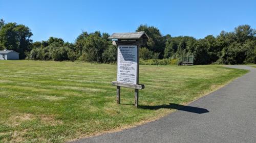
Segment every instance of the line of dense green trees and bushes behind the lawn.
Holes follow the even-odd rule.
[[[144,31],[150,39],[140,48],[144,61],[160,60],[179,64],[183,56],[194,55],[194,63],[201,64],[256,64],[256,30],[250,25],[239,25],[233,32],[222,31],[202,39],[191,36],[162,35],[157,27],[139,25],[136,32]],[[0,49],[19,52],[20,59],[93,63],[115,63],[117,48],[108,39],[108,33],[82,32],[74,43],[50,37],[47,41],[33,42],[28,26],[0,20]],[[168,62],[167,62],[168,64]]]

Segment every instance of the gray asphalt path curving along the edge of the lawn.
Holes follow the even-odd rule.
[[[256,142],[256,68],[170,115],[78,142]]]

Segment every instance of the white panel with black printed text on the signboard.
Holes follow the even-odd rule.
[[[137,84],[137,46],[118,46],[117,81]]]

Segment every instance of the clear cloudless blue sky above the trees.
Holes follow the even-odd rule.
[[[153,25],[163,35],[204,38],[241,24],[256,28],[256,1],[12,1],[0,0],[0,18],[25,24],[33,41],[50,36],[74,42],[82,32],[134,32]]]

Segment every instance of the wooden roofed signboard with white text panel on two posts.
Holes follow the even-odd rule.
[[[117,104],[120,104],[121,87],[133,88],[135,92],[135,106],[139,106],[139,90],[144,89],[139,84],[139,47],[146,44],[149,39],[145,32],[114,33],[109,39],[115,39],[113,45],[117,45]]]

